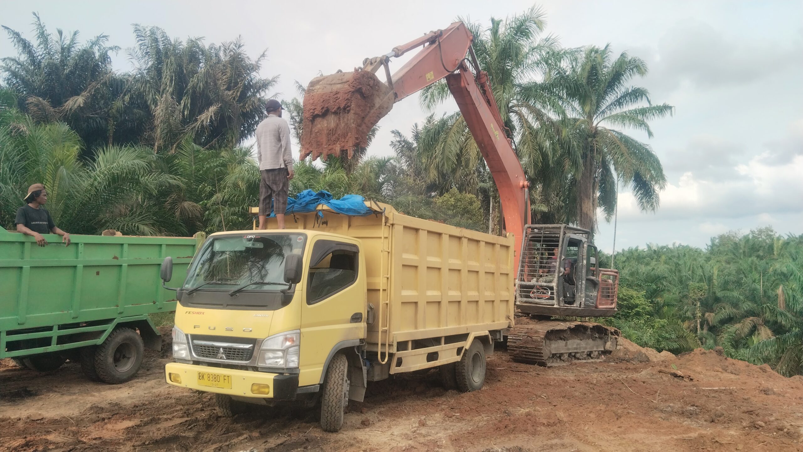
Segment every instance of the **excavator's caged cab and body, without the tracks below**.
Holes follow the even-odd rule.
[[[516,307],[539,316],[607,317],[616,313],[618,271],[597,268],[589,231],[568,225],[525,226]]]

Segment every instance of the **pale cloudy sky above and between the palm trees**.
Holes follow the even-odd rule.
[[[242,35],[252,55],[267,49],[263,75],[280,75],[279,98],[295,96],[319,71],[348,71],[458,16],[487,23],[533,2],[8,2],[0,24],[31,35],[31,11],[48,28],[107,34],[131,47],[132,23],[161,26],[174,38],[222,42]],[[649,140],[668,185],[656,213],[619,197],[616,248],[679,242],[705,246],[712,235],[772,225],[803,233],[803,2],[538,2],[547,34],[565,47],[611,43],[645,59],[650,74],[635,83],[675,116],[653,123]],[[13,55],[0,39],[0,56]],[[399,62],[396,67],[400,67]],[[114,60],[131,64],[125,51]],[[438,112],[456,110],[444,104]],[[390,131],[406,131],[427,115],[415,97],[379,124],[369,153],[385,155]],[[634,136],[647,140],[646,136]],[[295,149],[297,152],[297,149]],[[597,242],[613,246],[613,225]]]

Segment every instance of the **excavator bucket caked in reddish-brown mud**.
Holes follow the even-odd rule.
[[[393,108],[393,90],[370,71],[338,72],[312,79],[304,93],[302,160],[349,158],[368,145],[368,133]]]

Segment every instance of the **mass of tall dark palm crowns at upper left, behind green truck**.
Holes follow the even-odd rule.
[[[100,35],[55,35],[34,14],[35,40],[3,26],[18,51],[2,59],[2,78],[18,93],[19,108],[39,122],[63,121],[92,158],[104,145],[173,150],[185,139],[203,147],[232,147],[266,116],[267,92],[277,78],[259,76],[265,53],[251,59],[242,40],[206,45],[182,42],[157,27],[133,26],[131,72],[112,71],[120,51]]]

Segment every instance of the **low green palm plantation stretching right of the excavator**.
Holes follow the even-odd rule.
[[[705,250],[618,253],[621,311],[611,324],[671,352],[722,347],[733,358],[803,373],[803,235],[771,228],[722,234]]]

